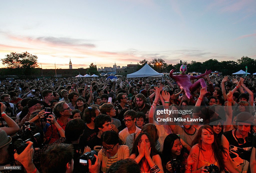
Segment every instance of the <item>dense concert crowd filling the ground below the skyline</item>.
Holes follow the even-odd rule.
[[[29,173],[256,172],[256,78],[203,74],[189,78],[201,84],[193,91],[174,78],[1,80],[0,165]]]

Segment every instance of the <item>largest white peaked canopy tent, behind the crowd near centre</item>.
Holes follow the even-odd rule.
[[[142,67],[140,70],[127,75],[127,78],[138,77],[163,77],[163,73],[158,73],[148,64],[145,64],[144,67]]]

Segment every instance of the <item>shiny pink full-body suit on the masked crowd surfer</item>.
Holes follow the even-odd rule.
[[[185,92],[185,95],[187,96],[188,99],[190,99],[191,96],[191,92],[196,91],[196,89],[201,85],[202,88],[206,89],[206,83],[204,79],[199,79],[205,75],[208,75],[211,73],[211,70],[206,70],[206,72],[204,74],[198,75],[198,76],[191,76],[191,75],[186,75],[184,72],[180,75],[173,75],[173,72],[175,71],[175,69],[172,69],[170,71],[170,77],[173,78],[176,83],[179,85],[180,89],[183,89]],[[195,83],[191,83],[190,80],[193,79],[199,79],[197,80]]]

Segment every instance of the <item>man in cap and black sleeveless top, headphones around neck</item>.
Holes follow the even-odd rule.
[[[236,119],[237,129],[224,132],[221,144],[227,148],[228,157],[224,158],[225,167],[229,172],[247,172],[252,152],[254,117],[248,112],[241,112]]]

